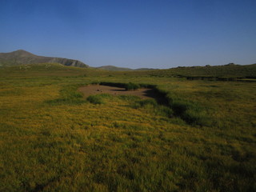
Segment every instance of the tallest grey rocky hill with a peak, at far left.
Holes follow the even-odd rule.
[[[31,54],[26,50],[0,53],[0,66],[18,66],[33,63],[59,63],[63,66],[89,67],[85,63],[69,58],[51,58]]]

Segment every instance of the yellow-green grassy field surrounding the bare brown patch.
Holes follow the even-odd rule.
[[[0,69],[0,191],[256,191],[256,83],[152,73]],[[77,91],[99,82],[165,102]]]

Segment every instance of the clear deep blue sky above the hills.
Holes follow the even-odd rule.
[[[0,52],[90,66],[256,62],[256,0],[0,0]]]

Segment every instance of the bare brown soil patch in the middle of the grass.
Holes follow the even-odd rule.
[[[83,86],[78,89],[84,95],[84,98],[92,94],[114,94],[114,95],[134,95],[140,98],[156,98],[154,90],[151,89],[138,89],[138,90],[125,90],[124,88],[115,86],[100,86],[90,85]]]

